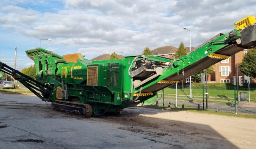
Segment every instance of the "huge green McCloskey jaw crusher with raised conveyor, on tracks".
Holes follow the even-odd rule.
[[[81,117],[118,114],[125,107],[154,104],[157,91],[243,49],[255,47],[255,23],[256,18],[248,16],[236,22],[234,30],[183,57],[158,54],[90,61],[80,53],[60,56],[36,48],[26,51],[35,62],[36,80],[2,62],[0,70],[42,100],[52,102],[54,111]]]

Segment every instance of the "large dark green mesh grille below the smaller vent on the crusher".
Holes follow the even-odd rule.
[[[107,71],[107,87],[118,87],[118,72],[118,70]]]

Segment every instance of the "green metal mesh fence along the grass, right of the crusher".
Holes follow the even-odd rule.
[[[192,84],[192,98],[190,98],[190,86],[179,85],[176,95],[176,84],[173,84],[163,92],[158,92],[158,97],[162,94],[158,105],[256,115],[256,88],[250,88],[250,91],[248,88],[239,88],[239,95],[236,87],[208,87],[207,92],[208,94],[205,94],[205,86],[198,88],[198,86],[193,87]]]

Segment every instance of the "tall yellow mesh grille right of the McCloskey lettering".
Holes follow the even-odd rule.
[[[87,85],[98,85],[98,66],[87,68]]]

